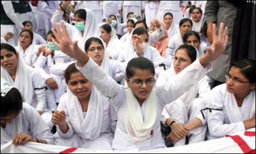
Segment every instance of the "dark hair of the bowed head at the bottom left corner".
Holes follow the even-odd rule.
[[[11,113],[19,114],[22,104],[22,96],[17,88],[10,89],[5,96],[2,96],[1,93],[1,117]]]

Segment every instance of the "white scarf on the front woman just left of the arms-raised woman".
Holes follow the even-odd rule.
[[[78,98],[73,95],[68,88],[67,112],[70,116],[70,122],[77,135],[83,139],[97,139],[100,135],[103,119],[102,95],[92,86],[92,93],[88,104],[86,116],[83,116],[83,110]]]

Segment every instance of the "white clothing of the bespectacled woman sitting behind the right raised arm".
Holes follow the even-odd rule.
[[[171,69],[161,73],[157,81],[164,84],[169,80],[172,80],[175,75],[177,74],[174,72],[172,66]],[[200,110],[205,109],[207,96],[209,96],[210,91],[211,88],[206,79],[200,79],[200,81],[196,82],[194,86],[189,88],[189,90],[177,100],[165,105],[162,112],[161,122],[165,124],[166,119],[172,118],[179,123],[186,124],[192,119],[198,118],[202,121],[203,126],[189,130],[189,144],[204,141],[207,125],[205,125],[206,119],[202,118]],[[186,137],[175,143],[174,146],[185,145],[185,143]]]

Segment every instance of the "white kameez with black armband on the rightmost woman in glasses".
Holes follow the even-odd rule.
[[[243,121],[255,116],[255,89],[244,98],[238,107],[234,93],[227,91],[227,84],[221,84],[211,90],[207,107],[221,111],[205,111],[207,114],[207,139],[218,139],[227,134],[245,130]]]

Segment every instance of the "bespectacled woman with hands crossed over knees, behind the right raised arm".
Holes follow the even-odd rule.
[[[172,68],[160,73],[158,82],[164,84],[172,80],[175,75],[199,58],[197,54],[192,45],[180,45],[173,58]],[[161,122],[170,126],[172,132],[166,136],[166,139],[170,138],[174,146],[185,145],[187,135],[189,144],[204,141],[207,125],[200,110],[205,108],[210,90],[208,82],[202,78],[177,100],[165,105]]]

